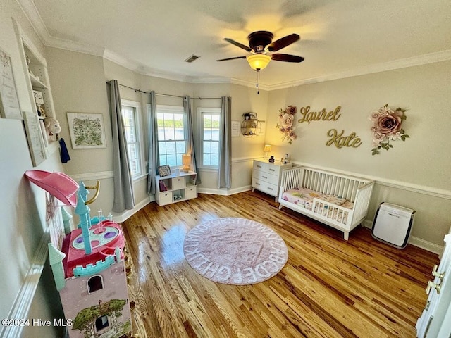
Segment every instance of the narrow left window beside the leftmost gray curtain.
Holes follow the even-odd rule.
[[[125,139],[127,139],[128,161],[132,176],[142,173],[142,146],[140,144],[139,103],[121,100]]]

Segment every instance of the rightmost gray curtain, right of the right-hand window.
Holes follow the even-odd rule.
[[[221,97],[221,117],[219,120],[219,172],[218,172],[218,187],[230,188],[232,184],[232,136],[231,126],[232,120],[230,118],[232,98],[228,96]]]

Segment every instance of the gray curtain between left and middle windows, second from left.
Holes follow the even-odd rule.
[[[158,125],[156,121],[155,92],[150,92],[150,103],[147,109],[147,121],[149,123],[149,169],[147,172],[147,194],[155,194],[155,175],[158,168]]]

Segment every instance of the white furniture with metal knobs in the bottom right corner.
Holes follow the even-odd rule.
[[[433,269],[433,278],[428,282],[429,292],[426,306],[416,322],[416,337],[451,337],[451,234],[445,236],[445,251],[438,267]]]

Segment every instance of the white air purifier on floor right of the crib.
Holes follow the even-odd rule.
[[[385,244],[404,249],[409,242],[415,211],[382,202],[374,216],[371,235]]]

